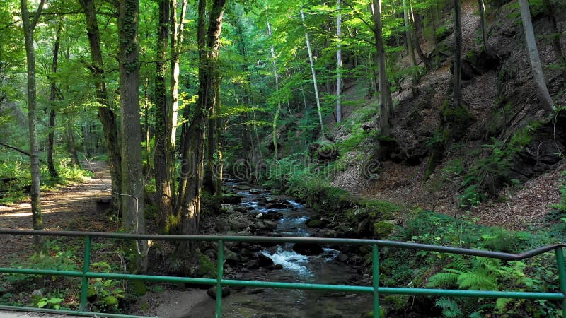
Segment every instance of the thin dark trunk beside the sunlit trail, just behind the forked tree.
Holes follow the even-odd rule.
[[[57,61],[59,59],[59,45],[60,45],[60,35],[61,35],[62,22],[59,22],[57,27],[57,33],[55,34],[55,43],[53,47],[53,61],[52,61],[52,74],[53,77],[57,73]],[[53,148],[54,148],[54,135],[55,135],[55,100],[57,100],[57,83],[54,78],[51,79],[49,100],[51,102],[51,110],[49,112],[49,136],[47,137],[47,169],[52,178],[57,179],[59,174],[55,169],[55,164],[53,162]]]

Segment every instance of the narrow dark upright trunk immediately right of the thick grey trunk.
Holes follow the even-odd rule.
[[[167,73],[167,48],[169,37],[169,0],[159,0],[159,21],[157,28],[156,73],[155,73],[155,184],[158,206],[158,227],[162,233],[168,233],[166,220],[173,213],[171,202],[171,176],[169,175],[167,152],[171,143],[171,126],[168,124],[167,91],[165,79]]]

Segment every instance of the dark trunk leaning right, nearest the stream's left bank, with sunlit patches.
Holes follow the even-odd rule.
[[[182,176],[180,182],[180,234],[195,235],[200,219],[200,199],[204,174],[204,132],[207,128],[207,115],[216,102],[214,88],[219,85],[216,63],[219,54],[220,33],[226,0],[214,0],[209,14],[207,38],[204,38],[204,11],[206,0],[199,1],[197,43],[199,45],[199,91],[195,114],[190,126],[185,130],[183,142]],[[206,47],[205,47],[206,42]],[[179,257],[188,257],[190,244],[180,242],[177,248]]]

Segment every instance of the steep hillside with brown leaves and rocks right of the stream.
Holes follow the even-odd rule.
[[[486,225],[522,229],[544,225],[550,206],[560,201],[565,115],[559,112],[549,118],[538,104],[516,3],[494,9],[488,18],[492,57],[483,53],[478,39],[477,2],[464,2],[462,10],[463,99],[477,120],[445,149],[439,165],[426,178],[441,105],[451,95],[450,52],[441,54],[444,61],[438,69],[425,73],[416,88],[404,81],[403,89],[393,96],[398,100],[393,137],[399,146],[395,153],[379,161],[379,171],[371,179],[364,173],[371,158],[352,159],[350,168],[339,172],[333,185],[364,197],[449,215],[468,211],[465,215]],[[555,15],[563,30],[566,13]],[[449,12],[445,18],[446,29],[452,30]],[[545,77],[550,93],[556,105],[565,105],[565,78],[550,67],[556,57],[548,40],[548,18],[538,14],[533,19],[541,59],[548,66]],[[451,34],[439,47],[450,50],[453,42]],[[432,54],[433,43],[423,42],[422,47],[425,54]],[[401,62],[408,64],[408,59]],[[378,121],[373,117],[365,125],[374,129]],[[376,147],[375,142],[366,143],[346,156],[371,156]]]

